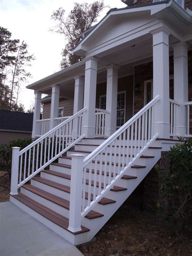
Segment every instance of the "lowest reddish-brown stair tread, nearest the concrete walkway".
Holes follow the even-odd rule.
[[[68,232],[73,233],[70,230],[68,230],[68,223],[69,223],[68,218],[60,215],[59,213],[56,213],[55,211],[52,211],[51,209],[37,203],[36,201],[30,199],[28,196],[25,196],[21,193],[19,193],[18,195],[12,195],[12,196],[17,200],[19,200],[21,203],[27,205],[28,207],[36,211],[37,213],[41,214],[43,217],[47,218],[51,222],[64,228]],[[84,226],[81,226],[81,229],[82,229],[81,231],[74,232],[73,234],[77,235],[80,233],[85,233],[87,231],[90,231],[89,228],[85,228]]]

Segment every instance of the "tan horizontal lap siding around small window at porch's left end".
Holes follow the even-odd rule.
[[[64,107],[64,116],[73,115],[73,99],[60,99],[59,100],[59,107]],[[51,101],[45,102],[43,104],[43,119],[50,118],[51,112]]]

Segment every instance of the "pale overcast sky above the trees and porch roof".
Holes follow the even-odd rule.
[[[25,41],[30,53],[36,60],[32,62],[32,79],[28,84],[38,81],[60,70],[61,50],[64,46],[64,37],[49,32],[53,26],[51,14],[59,7],[68,13],[74,2],[94,2],[93,0],[0,0],[0,26],[7,28],[12,33],[13,39]],[[121,0],[104,0],[110,8],[121,8],[126,5]],[[108,9],[102,12],[101,19]],[[98,19],[98,20],[99,20]],[[28,85],[26,84],[26,85]],[[25,86],[26,86],[25,85]],[[25,109],[30,108],[34,101],[34,91],[23,88],[20,102]]]

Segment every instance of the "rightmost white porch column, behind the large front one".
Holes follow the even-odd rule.
[[[181,103],[177,113],[177,133],[187,133],[187,115],[184,102],[188,101],[188,48],[186,42],[172,45],[174,49],[174,100]]]

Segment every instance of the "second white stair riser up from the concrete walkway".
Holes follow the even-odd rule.
[[[56,203],[53,203],[52,201],[49,201],[46,198],[43,198],[25,188],[21,188],[21,193],[28,196],[29,198],[36,201],[37,203],[40,203],[41,205],[44,205],[45,207],[65,216],[66,218],[69,218],[69,210],[68,209],[66,209]]]

